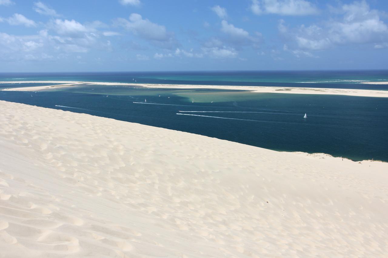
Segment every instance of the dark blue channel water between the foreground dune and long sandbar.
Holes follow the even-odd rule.
[[[62,76],[52,75],[50,80],[75,79]],[[77,80],[114,81],[104,76]],[[314,85],[322,87],[320,83]],[[374,158],[388,162],[386,98],[79,86],[36,93],[0,91],[0,99],[192,132],[272,150],[322,152],[353,160]],[[307,119],[303,119],[305,113]]]

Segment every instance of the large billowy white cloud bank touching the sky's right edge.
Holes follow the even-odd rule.
[[[294,42],[293,49],[311,51],[337,45],[373,44],[379,48],[388,44],[388,26],[381,21],[378,10],[371,10],[365,1],[341,5],[323,26],[310,25],[289,29],[279,21],[279,32]]]

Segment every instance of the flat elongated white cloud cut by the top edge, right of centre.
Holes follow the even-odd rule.
[[[260,15],[311,15],[318,12],[317,8],[306,0],[252,0],[251,11]]]

